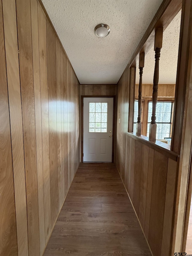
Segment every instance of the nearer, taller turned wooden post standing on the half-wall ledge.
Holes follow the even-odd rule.
[[[159,58],[163,42],[163,28],[158,28],[155,31],[155,71],[153,77],[153,95],[152,95],[152,118],[149,126],[149,140],[156,140],[157,124],[156,124],[156,107],[158,96],[158,82],[159,82]]]

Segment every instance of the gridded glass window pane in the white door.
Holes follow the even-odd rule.
[[[89,132],[107,133],[107,102],[89,102]]]

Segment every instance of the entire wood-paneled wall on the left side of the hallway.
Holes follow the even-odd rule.
[[[38,0],[0,0],[0,255],[42,255],[79,166],[79,82]]]

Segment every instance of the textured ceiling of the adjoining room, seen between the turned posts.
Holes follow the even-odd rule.
[[[181,11],[172,20],[163,34],[163,46],[159,60],[159,84],[175,84],[177,73],[177,59],[179,50],[179,34],[181,23]],[[154,47],[145,56],[143,68],[143,84],[153,84],[155,68]],[[136,69],[136,83],[139,83],[139,66]]]

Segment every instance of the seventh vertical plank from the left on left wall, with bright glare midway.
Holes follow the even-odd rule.
[[[59,209],[63,203],[62,184],[62,137],[61,137],[61,46],[55,40],[56,51],[56,102],[57,102],[57,174],[58,174],[58,204]]]

